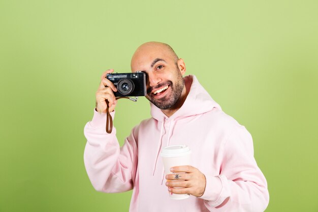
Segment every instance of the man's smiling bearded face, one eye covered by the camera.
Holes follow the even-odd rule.
[[[132,58],[132,71],[147,75],[146,98],[163,110],[177,103],[184,87],[176,59],[165,46],[138,49]]]

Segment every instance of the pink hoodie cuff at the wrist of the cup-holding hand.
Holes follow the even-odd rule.
[[[205,175],[205,179],[205,191],[199,198],[209,201],[211,206],[216,207],[224,201],[224,199],[220,198],[223,188],[221,176]]]

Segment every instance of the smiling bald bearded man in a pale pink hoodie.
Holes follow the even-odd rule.
[[[141,45],[132,72],[147,76],[151,118],[136,126],[119,147],[116,129],[105,132],[106,108],[114,118],[117,89],[101,77],[96,108],[84,129],[84,163],[93,187],[102,192],[133,189],[130,211],[264,211],[269,195],[266,179],[253,157],[248,131],[225,114],[174,50],[160,42]],[[185,144],[192,166],[173,167],[164,175],[161,149]],[[190,198],[173,200],[175,194]]]

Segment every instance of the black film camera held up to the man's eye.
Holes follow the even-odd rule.
[[[137,71],[135,73],[107,74],[109,79],[117,88],[115,97],[140,97],[146,96],[146,74]]]

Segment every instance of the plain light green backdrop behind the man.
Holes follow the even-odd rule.
[[[267,212],[318,211],[317,1],[0,1],[0,211],[128,211],[94,191],[83,128],[100,76],[135,49],[170,44],[252,134]],[[121,144],[150,117],[120,100]],[[127,118],[129,117],[129,118]]]

